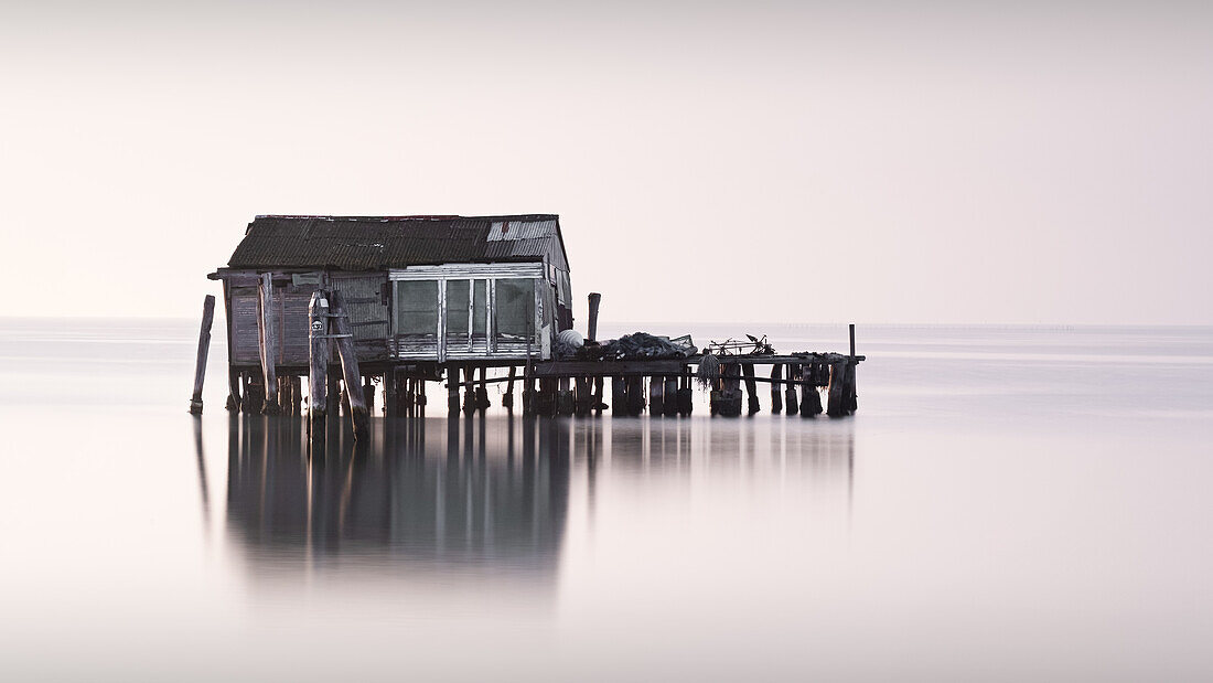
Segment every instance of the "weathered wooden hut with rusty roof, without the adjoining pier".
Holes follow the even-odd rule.
[[[300,410],[317,292],[343,303],[348,331],[321,335],[354,351],[359,377],[343,370],[343,403],[349,385],[378,380],[389,415],[422,408],[426,381],[444,377],[455,406],[460,371],[483,381],[488,368],[551,358],[573,326],[569,260],[551,214],[257,216],[209,278],[223,283],[228,406],[246,411]],[[337,372],[328,376],[334,394]],[[472,408],[486,404],[479,388]]]

